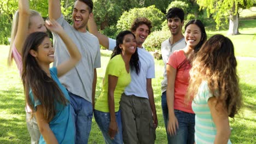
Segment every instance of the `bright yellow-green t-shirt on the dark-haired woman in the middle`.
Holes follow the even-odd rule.
[[[113,57],[108,62],[102,92],[95,103],[95,110],[102,111],[102,112],[109,112],[108,75],[113,75],[118,77],[117,86],[115,86],[115,90],[114,90],[115,112],[117,112],[119,110],[119,101],[121,99],[121,94],[124,92],[125,87],[129,85],[129,83],[131,82],[131,75],[130,73],[127,73],[125,68],[125,63],[121,55],[117,55]]]

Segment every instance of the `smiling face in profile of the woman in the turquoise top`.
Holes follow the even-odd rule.
[[[33,56],[36,57],[39,65],[54,62],[54,48],[48,37],[44,38],[43,42],[38,46],[37,51],[34,51]]]

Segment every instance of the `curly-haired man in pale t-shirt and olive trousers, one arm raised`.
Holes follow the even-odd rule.
[[[88,21],[88,28],[102,46],[114,50],[115,40],[99,33],[94,19]],[[155,65],[153,56],[142,47],[151,28],[152,23],[144,17],[135,19],[131,25],[131,31],[136,37],[140,71],[138,75],[135,70],[131,71],[131,83],[125,88],[120,101],[124,143],[155,141],[155,128],[158,126],[152,88]]]

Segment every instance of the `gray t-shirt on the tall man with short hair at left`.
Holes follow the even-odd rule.
[[[64,19],[63,15],[57,20],[63,27],[64,31],[77,45],[82,59],[75,67],[68,71],[67,74],[60,77],[60,82],[68,91],[75,95],[92,102],[92,82],[94,79],[94,69],[101,67],[101,52],[98,39],[86,31],[79,32]],[[65,62],[69,58],[66,45],[63,43],[59,35],[53,33],[53,41],[55,47],[54,66]]]

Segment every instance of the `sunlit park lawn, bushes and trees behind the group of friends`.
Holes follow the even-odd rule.
[[[230,118],[232,143],[256,143],[256,0],[93,0],[94,16],[101,33],[115,38],[124,29],[129,29],[135,17],[148,17],[153,23],[153,31],[146,39],[144,47],[148,51],[159,52],[161,42],[170,37],[166,10],[180,7],[185,11],[185,23],[200,19],[206,26],[207,37],[214,34],[228,35],[235,46],[237,71],[243,97],[240,115]],[[71,13],[74,0],[61,1],[62,14],[72,23]],[[44,19],[48,17],[48,0],[30,2],[31,9],[38,10]],[[30,143],[26,128],[23,86],[15,63],[7,67],[11,22],[18,0],[0,2],[0,143]],[[231,22],[230,22],[231,21]],[[237,24],[237,25],[236,25]],[[184,31],[184,28],[183,28]],[[97,69],[96,98],[101,93],[102,78],[111,51],[101,50],[102,67]],[[161,81],[164,63],[155,59],[156,77],[153,90],[158,128],[155,143],[167,143],[166,131],[161,111]],[[104,143],[103,136],[94,119],[89,143]]]

